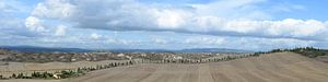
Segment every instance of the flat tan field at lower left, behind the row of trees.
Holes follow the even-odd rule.
[[[103,60],[103,61],[77,61],[77,62],[8,62],[7,66],[0,66],[0,73],[3,77],[12,75],[12,73],[32,73],[34,71],[61,71],[74,70],[83,67],[96,67],[97,65],[108,65],[110,62],[124,62],[127,60]]]

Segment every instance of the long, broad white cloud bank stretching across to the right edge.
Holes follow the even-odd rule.
[[[321,40],[323,35],[327,35],[328,26],[321,21],[270,20],[270,12],[258,5],[266,1],[220,0],[174,7],[143,4],[137,0],[47,0],[38,3],[32,14],[58,19],[70,23],[72,27],[112,31],[171,31],[314,40]],[[302,5],[288,8],[305,9]],[[33,26],[34,30],[35,27]]]

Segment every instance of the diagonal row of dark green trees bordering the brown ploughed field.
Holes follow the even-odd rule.
[[[75,78],[80,75],[84,75],[85,73],[90,71],[95,70],[102,70],[102,69],[108,69],[114,67],[121,67],[121,66],[130,66],[136,63],[204,63],[204,62],[218,62],[218,61],[229,61],[239,58],[248,58],[248,57],[258,57],[261,54],[267,52],[254,52],[249,55],[241,55],[241,56],[226,56],[222,58],[212,58],[212,59],[163,59],[163,60],[150,60],[150,59],[142,59],[141,61],[132,61],[129,60],[127,62],[112,62],[108,65],[97,65],[95,67],[83,67],[78,68],[75,70],[61,70],[56,72],[33,72],[31,74],[24,74],[24,73],[13,73],[9,78],[4,78],[3,75],[0,75],[1,80],[8,80],[8,79],[68,79],[68,78]]]

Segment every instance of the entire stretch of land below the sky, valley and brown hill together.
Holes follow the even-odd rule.
[[[1,82],[326,82],[328,79],[326,59],[316,58],[326,56],[326,50],[314,48],[255,54],[0,52],[1,75],[9,78]],[[65,79],[51,78],[55,74],[28,77],[35,71],[56,73],[81,71],[81,68],[87,72],[71,72]],[[12,73],[22,73],[25,79],[10,78]]]

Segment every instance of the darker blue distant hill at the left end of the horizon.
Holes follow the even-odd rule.
[[[37,46],[0,46],[0,48],[5,48],[20,52],[90,52],[93,50],[80,49],[80,48],[48,48],[48,47],[37,47]]]

